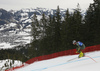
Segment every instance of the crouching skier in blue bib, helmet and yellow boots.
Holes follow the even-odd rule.
[[[76,47],[76,53],[79,53],[78,58],[84,57],[85,54],[82,51],[85,49],[85,45],[80,41],[76,42],[76,40],[73,40],[73,44],[78,46]]]

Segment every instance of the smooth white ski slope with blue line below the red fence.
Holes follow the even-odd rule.
[[[100,71],[100,51],[89,52],[86,57],[68,61],[76,57],[78,55],[38,61],[14,71]]]

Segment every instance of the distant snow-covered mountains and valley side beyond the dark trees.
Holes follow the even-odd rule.
[[[60,11],[64,16],[66,10],[60,9]],[[46,16],[54,15],[56,9],[38,7],[10,11],[0,9],[0,48],[12,48],[30,43],[31,18],[34,13],[40,20],[43,13]]]

